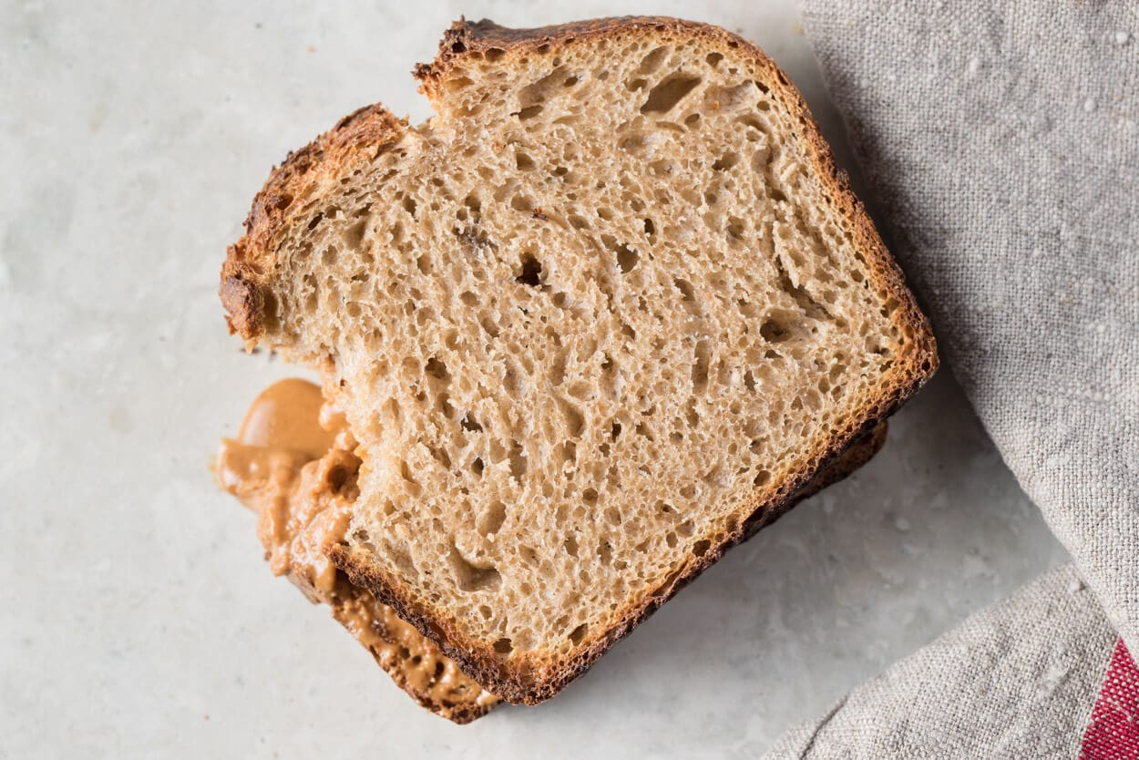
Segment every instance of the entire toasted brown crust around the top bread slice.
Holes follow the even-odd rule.
[[[714,564],[728,548],[770,524],[792,504],[803,498],[800,490],[826,463],[895,411],[926,383],[939,363],[933,333],[906,287],[901,269],[886,252],[862,204],[851,193],[845,173],[836,169],[830,149],[798,91],[770,58],[743,38],[714,26],[658,17],[599,19],[534,30],[508,30],[489,21],[458,22],[445,33],[436,59],[417,66],[415,73],[421,81],[423,91],[437,100],[439,83],[452,67],[465,60],[491,56],[509,62],[511,57],[556,55],[566,46],[609,35],[645,35],[664,40],[697,36],[711,46],[728,48],[735,55],[751,58],[757,68],[768,73],[767,83],[771,87],[772,96],[802,125],[800,140],[806,160],[825,183],[831,202],[851,221],[854,245],[867,261],[871,284],[884,300],[896,304],[890,312],[890,318],[906,336],[909,350],[899,354],[880,392],[841,423],[841,432],[835,438],[821,444],[778,489],[756,493],[740,509],[740,513],[749,515],[746,520],[729,522],[720,533],[707,537],[710,547],[704,555],[690,557],[658,588],[631,602],[616,624],[583,641],[570,659],[559,659],[559,655],[552,653],[547,656],[542,652],[530,652],[503,661],[490,643],[464,636],[458,621],[433,615],[411,589],[388,578],[363,554],[353,553],[343,545],[330,547],[330,557],[349,573],[354,583],[370,589],[383,602],[395,607],[404,620],[437,641],[440,648],[459,662],[466,672],[509,702],[541,702],[584,672],[616,640],[703,570]],[[260,295],[257,284],[263,272],[271,267],[271,240],[287,218],[294,197],[321,177],[335,177],[346,155],[364,146],[383,149],[405,129],[404,123],[394,120],[378,106],[361,109],[308,148],[290,156],[273,172],[265,189],[254,202],[246,236],[231,246],[222,270],[222,300],[230,314],[231,330],[240,334],[247,343],[254,342],[267,321],[272,319],[271,304],[264,303],[265,297]]]

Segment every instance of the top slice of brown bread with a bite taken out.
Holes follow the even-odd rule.
[[[450,30],[437,115],[363,108],[229,250],[247,345],[328,367],[360,496],[331,557],[535,703],[786,508],[937,365],[810,113],[665,18]]]

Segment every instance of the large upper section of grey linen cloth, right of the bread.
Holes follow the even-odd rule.
[[[883,232],[1139,652],[1139,5],[806,0]]]

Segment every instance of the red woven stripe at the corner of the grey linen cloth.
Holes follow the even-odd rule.
[[[1115,645],[1080,760],[1139,760],[1139,668],[1123,639]]]

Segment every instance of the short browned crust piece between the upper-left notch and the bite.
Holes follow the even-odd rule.
[[[360,152],[379,155],[400,140],[405,121],[379,104],[349,114],[316,140],[289,153],[274,166],[264,187],[253,198],[245,218],[245,235],[229,246],[221,268],[218,295],[226,309],[230,334],[252,346],[272,328],[276,304],[264,283],[274,262],[274,240],[293,209],[303,205],[323,178],[351,162]]]

